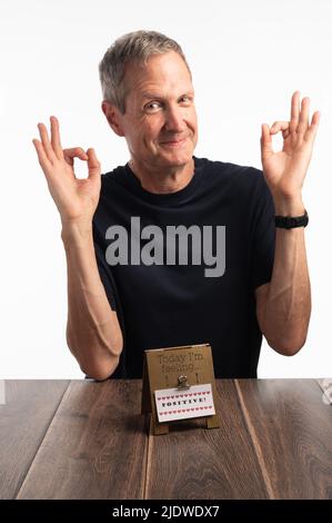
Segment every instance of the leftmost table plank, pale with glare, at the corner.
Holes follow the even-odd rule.
[[[4,382],[0,405],[0,500],[16,497],[69,381]]]

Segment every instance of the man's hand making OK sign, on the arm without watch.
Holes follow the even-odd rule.
[[[59,121],[54,116],[50,117],[50,121],[51,141],[43,124],[38,125],[41,141],[37,139],[32,141],[49,190],[59,209],[62,227],[74,225],[80,230],[91,229],[100,196],[100,162],[92,148],[87,152],[81,147],[62,150]],[[88,162],[88,178],[76,177],[74,158]]]

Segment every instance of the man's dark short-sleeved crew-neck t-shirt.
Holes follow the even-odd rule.
[[[273,200],[261,170],[193,159],[171,194],[143,189],[128,164],[101,177],[94,248],[124,341],[112,377],[142,377],[144,349],[200,343],[215,377],[256,377],[254,289],[272,275]]]

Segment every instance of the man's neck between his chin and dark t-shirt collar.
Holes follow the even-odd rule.
[[[151,169],[134,159],[129,161],[129,166],[143,189],[154,194],[177,193],[183,189],[190,182],[194,171],[193,158],[182,166],[165,168]]]

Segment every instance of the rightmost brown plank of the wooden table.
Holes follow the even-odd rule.
[[[332,412],[316,382],[235,384],[271,497],[332,499]]]

